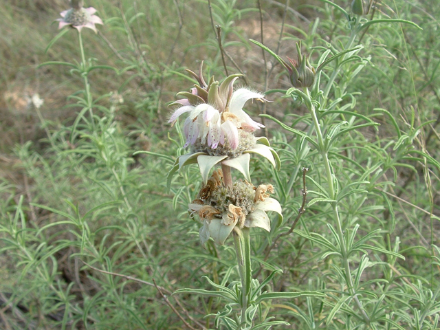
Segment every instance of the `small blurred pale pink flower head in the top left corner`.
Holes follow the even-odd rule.
[[[89,28],[97,32],[95,24],[102,24],[102,20],[94,15],[96,9],[93,7],[83,8],[83,0],[71,0],[72,8],[61,12],[61,19],[59,21],[58,29],[64,28],[66,25],[72,25],[79,32],[83,28]]]

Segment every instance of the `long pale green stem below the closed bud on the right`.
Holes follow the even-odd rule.
[[[312,120],[314,122],[314,126],[316,128],[316,135],[318,137],[318,144],[319,144],[319,148],[320,148],[319,153],[321,154],[322,159],[324,160],[325,173],[327,175],[327,182],[329,184],[329,190],[328,190],[329,197],[331,199],[335,199],[336,192],[335,192],[335,188],[333,186],[333,174],[331,173],[331,164],[330,164],[330,160],[329,160],[329,154],[327,152],[327,147],[325,146],[324,138],[322,137],[320,123],[318,120],[318,116],[316,115],[315,106],[310,98],[309,89],[307,87],[305,87],[304,93],[301,95],[303,96],[303,98],[305,98],[304,102],[310,111],[311,118],[312,118]],[[342,223],[341,223],[341,220],[339,217],[338,202],[333,201],[331,203],[331,206],[333,208],[333,216],[336,219],[336,227],[338,228],[338,236],[339,236],[340,249],[341,249],[341,255],[342,255],[342,264],[344,265],[344,270],[345,270],[345,281],[347,282],[351,296],[353,296],[353,299],[355,300],[355,303],[358,306],[358,308],[362,314],[362,318],[364,318],[364,322],[366,323],[366,325],[370,325],[369,316],[366,314],[364,307],[362,307],[362,303],[358,299],[358,296],[355,295],[353,278],[351,278],[350,261],[349,261],[349,257],[348,257],[347,245],[345,244],[344,232],[342,231]]]

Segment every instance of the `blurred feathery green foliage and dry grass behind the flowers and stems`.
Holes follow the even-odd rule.
[[[183,318],[194,329],[214,329],[221,300],[160,294],[211,289],[201,276],[224,284],[237,274],[231,244],[210,242],[203,250],[200,223],[188,217],[200,188],[196,168],[166,190],[166,173],[184,153],[166,105],[192,87],[184,68],[197,71],[203,60],[208,76],[225,77],[214,22],[229,74],[241,70],[242,85],[269,91],[273,102],[248,104],[252,117],[267,113],[307,133],[306,107],[285,97],[292,85],[283,67],[249,39],[261,41],[263,24],[262,43],[296,58],[301,40],[316,67],[327,49],[341,52],[350,38],[346,17],[328,2],[212,0],[210,12],[206,1],[87,1],[104,25],[98,34],[83,31],[85,56],[115,68],[88,75],[90,117],[80,100],[83,76],[63,65],[39,66],[81,62],[74,30],[51,43],[58,33],[52,22],[67,3],[0,0],[0,327],[188,329]],[[349,11],[350,1],[334,2]],[[283,329],[438,327],[438,17],[436,0],[376,1],[368,19],[406,19],[423,30],[370,25],[355,36],[353,46],[364,47],[353,61],[330,63],[322,74],[329,99],[320,120],[329,140],[335,137],[329,157],[344,234],[353,238],[349,276],[370,324],[349,299],[347,269],[332,252],[338,239],[319,153],[292,129],[258,118],[282,168],[252,160],[253,183],[274,184],[285,220],[271,233],[252,232],[254,276],[280,268],[266,291],[314,290],[327,298],[272,300],[257,319],[291,324]],[[32,102],[36,94],[41,107]],[[362,126],[368,122],[380,125]],[[307,210],[271,247],[297,218],[303,167]]]

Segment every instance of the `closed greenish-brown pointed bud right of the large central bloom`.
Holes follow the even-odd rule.
[[[285,63],[285,68],[289,72],[290,81],[296,88],[311,87],[315,82],[315,68],[309,63],[309,59],[305,55],[301,55],[301,43],[296,43],[298,51],[298,62],[287,58],[290,65]]]

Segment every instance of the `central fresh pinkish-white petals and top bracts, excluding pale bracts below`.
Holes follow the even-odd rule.
[[[263,101],[263,94],[246,88],[234,91],[234,82],[241,76],[238,74],[228,76],[221,84],[212,77],[207,84],[201,69],[199,75],[187,71],[197,79],[199,85],[195,85],[191,92],[177,94],[184,99],[173,103],[179,107],[168,122],[174,124],[180,115],[189,113],[184,123],[185,146],[192,146],[195,152],[207,149],[212,153],[216,153],[213,150],[221,146],[225,148],[225,153],[236,156],[241,140],[249,137],[249,134],[240,135],[239,131],[253,133],[264,127],[243,111],[245,102],[252,99]]]

